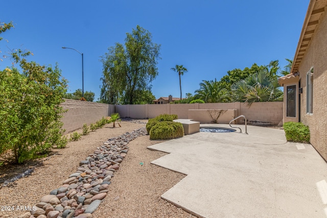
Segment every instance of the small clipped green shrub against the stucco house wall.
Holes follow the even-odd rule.
[[[287,122],[283,125],[285,136],[288,141],[309,143],[309,127],[302,123]]]

